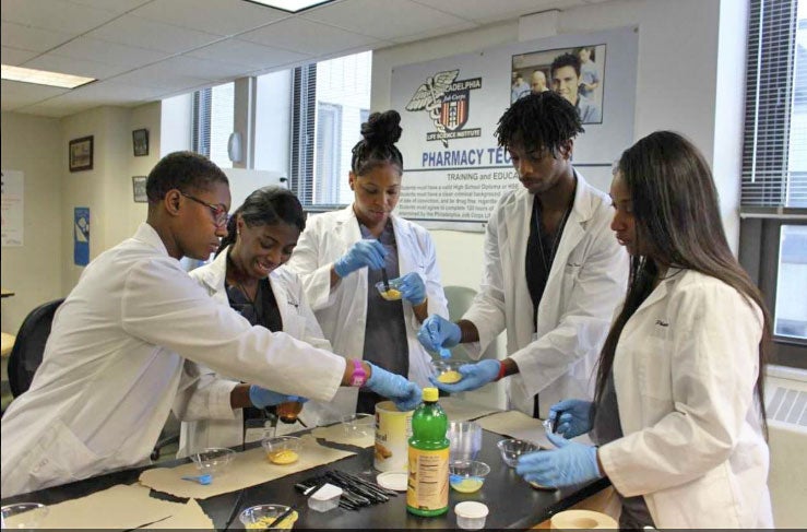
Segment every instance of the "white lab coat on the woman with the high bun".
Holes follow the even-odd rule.
[[[417,272],[426,285],[428,314],[448,318],[448,302],[440,282],[437,253],[429,233],[419,225],[392,215],[392,227],[397,244],[401,275]],[[342,279],[331,289],[331,267],[361,239],[358,220],[349,205],[340,211],[317,214],[308,218],[292,259],[286,264],[302,279],[308,303],[334,353],[359,358],[365,346],[367,318],[367,268]],[[430,386],[431,356],[417,341],[420,322],[412,305],[403,303],[406,336],[410,351],[410,380]],[[357,390],[343,389],[331,403],[331,412],[323,413],[321,423],[332,421],[334,412],[351,414],[356,411]],[[339,419],[339,417],[336,417]]]

